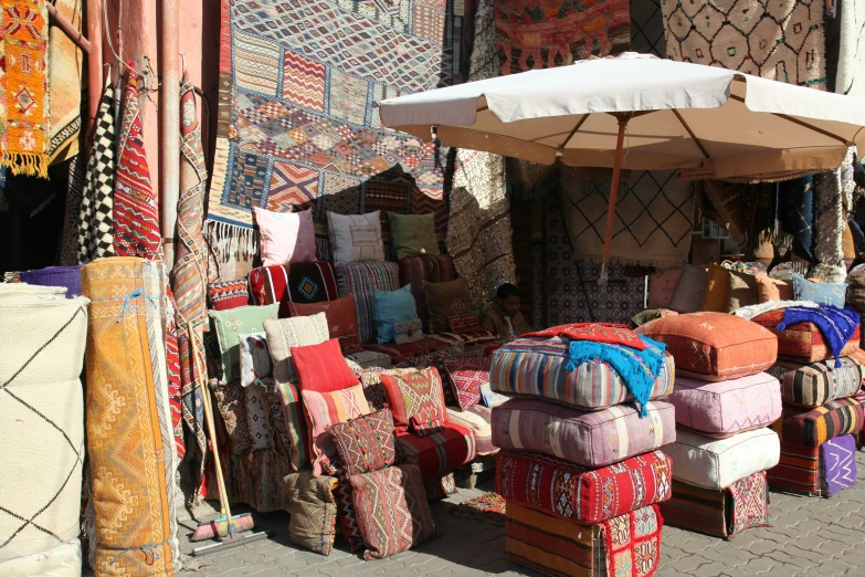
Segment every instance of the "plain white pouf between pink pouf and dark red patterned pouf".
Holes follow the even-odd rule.
[[[736,481],[778,464],[778,436],[770,429],[745,431],[727,439],[679,429],[676,442],[662,449],[676,463],[679,481],[707,489],[726,489]]]

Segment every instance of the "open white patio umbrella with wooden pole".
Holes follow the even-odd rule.
[[[633,52],[390,98],[379,114],[446,146],[612,168],[602,282],[622,168],[767,180],[865,153],[865,99]]]

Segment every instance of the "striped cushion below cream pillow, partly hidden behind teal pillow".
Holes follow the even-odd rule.
[[[399,288],[399,266],[395,262],[384,261],[346,262],[336,263],[334,271],[340,298],[347,294],[355,295],[360,342],[375,342],[376,298],[373,288],[388,293]]]

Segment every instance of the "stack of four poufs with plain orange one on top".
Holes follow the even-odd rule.
[[[778,339],[768,329],[722,313],[652,321],[637,329],[667,345],[676,360],[676,442],[673,496],[661,505],[669,525],[732,539],[768,525],[766,471],[778,464],[781,416],[774,363]]]

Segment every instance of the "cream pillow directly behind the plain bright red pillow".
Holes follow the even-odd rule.
[[[278,306],[278,305],[271,305]],[[292,360],[292,348],[318,345],[329,339],[327,316],[318,313],[313,316],[281,318],[264,323],[267,344],[273,358],[273,376],[276,382],[297,382],[297,370]]]

